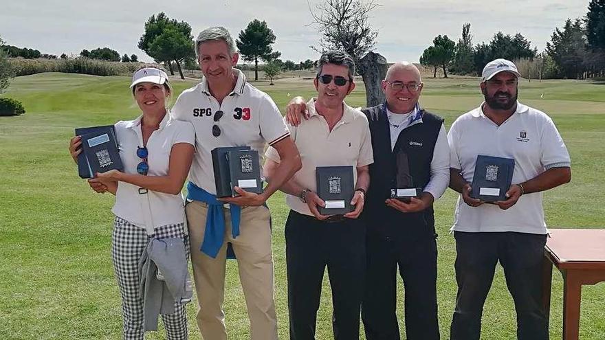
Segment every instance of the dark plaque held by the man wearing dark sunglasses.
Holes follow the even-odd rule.
[[[320,214],[342,215],[353,211],[353,166],[318,166],[315,174],[317,194],[326,203],[325,207],[318,207]]]

